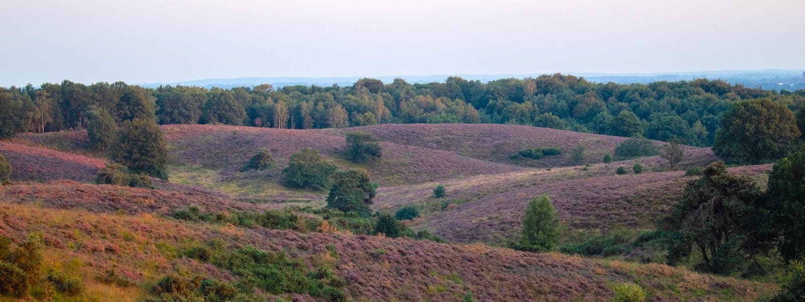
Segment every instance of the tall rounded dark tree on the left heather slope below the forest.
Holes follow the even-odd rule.
[[[128,167],[130,172],[167,180],[167,143],[153,119],[135,118],[118,136],[114,162]]]

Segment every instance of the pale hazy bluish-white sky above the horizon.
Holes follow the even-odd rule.
[[[0,85],[805,68],[802,0],[2,0]]]

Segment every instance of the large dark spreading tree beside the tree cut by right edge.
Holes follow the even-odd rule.
[[[760,188],[747,176],[733,176],[722,161],[710,163],[667,220],[668,260],[677,263],[696,250],[703,271],[726,274],[774,244]]]

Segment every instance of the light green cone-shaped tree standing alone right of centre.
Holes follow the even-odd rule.
[[[559,220],[556,209],[547,194],[536,197],[528,204],[522,220],[522,238],[514,246],[518,250],[544,252],[553,250],[559,241]]]

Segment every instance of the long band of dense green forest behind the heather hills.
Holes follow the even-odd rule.
[[[736,101],[769,98],[797,110],[805,90],[750,89],[725,81],[594,84],[562,74],[481,83],[389,84],[361,79],[352,86],[204,89],[71,81],[39,88],[0,88],[0,136],[86,128],[93,112],[116,122],[153,118],[160,124],[227,124],[313,129],[378,123],[508,123],[710,146],[720,115]]]

